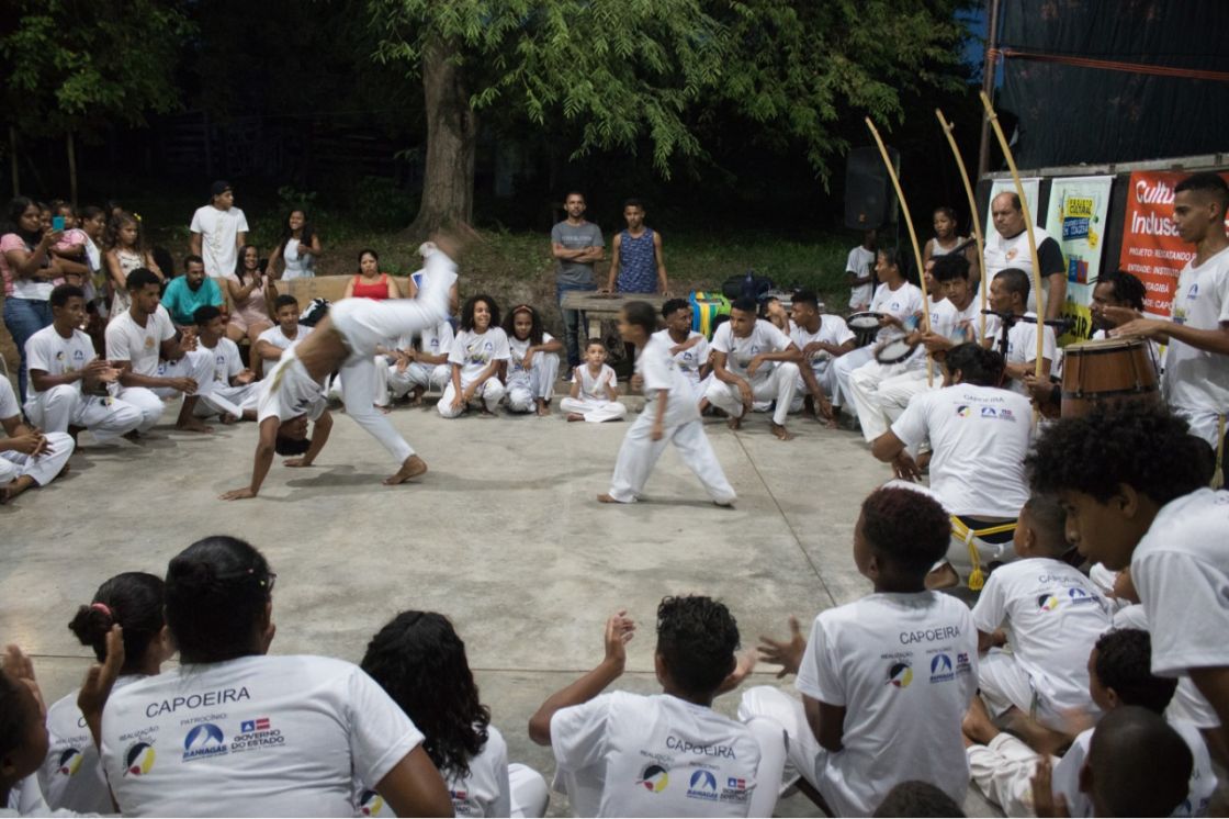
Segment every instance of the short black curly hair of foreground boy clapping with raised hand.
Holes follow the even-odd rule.
[[[739,623],[724,604],[698,595],[658,605],[658,654],[687,694],[710,696],[734,670]]]

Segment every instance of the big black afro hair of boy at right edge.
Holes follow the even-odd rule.
[[[1040,492],[1083,492],[1104,504],[1126,483],[1158,505],[1204,486],[1206,462],[1207,444],[1185,421],[1139,402],[1062,418],[1024,461]]]

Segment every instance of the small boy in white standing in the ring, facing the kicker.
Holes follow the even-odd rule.
[[[725,472],[704,435],[699,407],[689,400],[687,376],[682,374],[677,359],[670,355],[669,342],[653,332],[655,326],[653,307],[644,301],[629,301],[619,315],[619,333],[639,350],[635,374],[648,403],[623,438],[610,493],[597,499],[602,503],[633,503],[670,441],[708,489],[713,503],[731,505],[734,488],[725,480]]]

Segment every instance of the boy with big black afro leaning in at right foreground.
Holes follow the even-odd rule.
[[[1095,454],[1095,455],[1094,455]],[[1029,459],[1058,494],[1067,540],[1111,571],[1131,566],[1153,633],[1154,674],[1190,676],[1229,740],[1229,492],[1201,488],[1207,444],[1169,412],[1125,403],[1051,425]]]

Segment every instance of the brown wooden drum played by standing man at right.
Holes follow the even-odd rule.
[[[1159,403],[1153,348],[1143,338],[1097,338],[1063,350],[1063,418],[1086,416],[1102,403]]]

